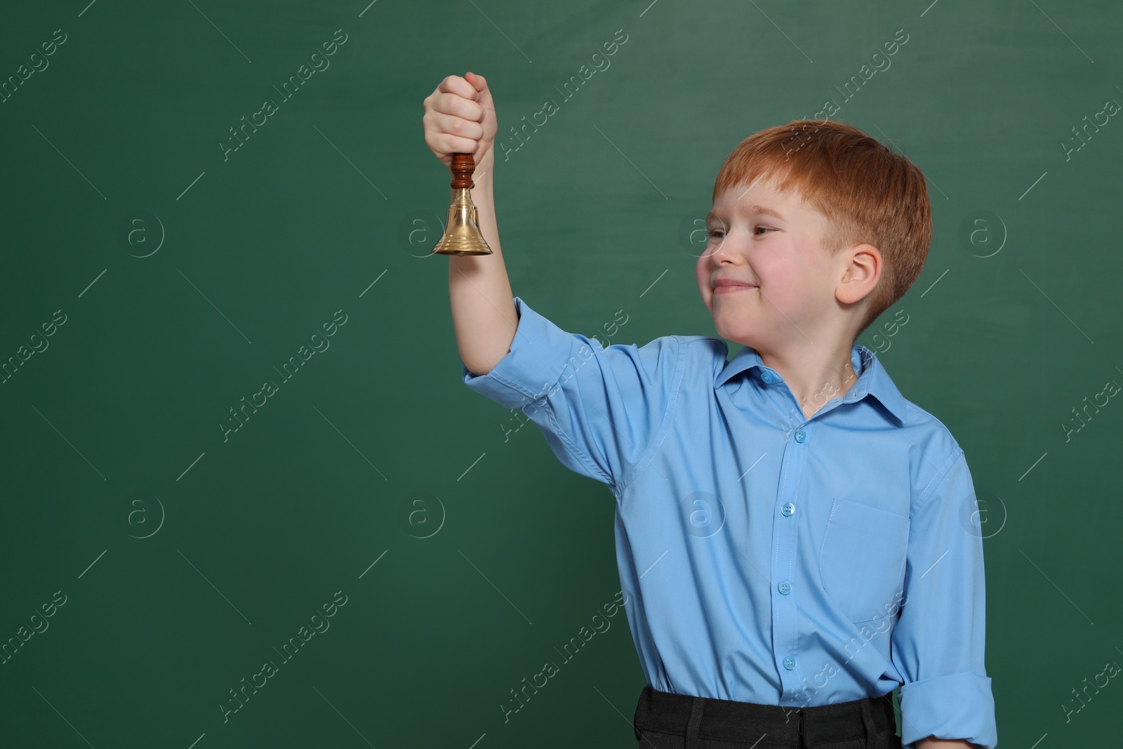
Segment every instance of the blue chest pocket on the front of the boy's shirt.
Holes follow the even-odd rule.
[[[819,574],[831,601],[853,623],[894,610],[904,583],[909,518],[836,499],[819,554]]]

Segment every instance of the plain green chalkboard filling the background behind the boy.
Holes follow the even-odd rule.
[[[623,615],[504,718],[620,583],[609,490],[460,381],[421,116],[473,71],[514,292],[610,342],[716,335],[683,227],[751,133],[830,109],[924,171],[928,265],[859,342],[970,462],[1003,746],[1112,746],[1123,687],[1088,685],[1123,663],[1121,24],[6,8],[0,745],[634,746]]]

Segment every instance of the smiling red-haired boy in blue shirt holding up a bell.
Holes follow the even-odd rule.
[[[993,749],[964,451],[855,345],[924,265],[920,170],[838,122],[755,134],[718,174],[695,268],[741,350],[604,348],[511,294],[486,81],[449,76],[424,109],[446,166],[473,154],[494,252],[449,256],[464,382],[615,496],[641,746]]]

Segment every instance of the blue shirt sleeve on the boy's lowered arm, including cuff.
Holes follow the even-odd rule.
[[[977,502],[961,448],[916,502],[904,605],[892,637],[893,664],[904,681],[901,741],[911,747],[934,736],[993,749],[998,736],[983,664],[983,537],[974,522]]]

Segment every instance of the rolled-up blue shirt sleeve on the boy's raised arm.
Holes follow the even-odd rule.
[[[521,410],[566,467],[615,491],[669,415],[683,372],[678,337],[605,348],[562,330],[518,296],[514,308],[511,349],[485,375],[462,360],[464,384]]]

